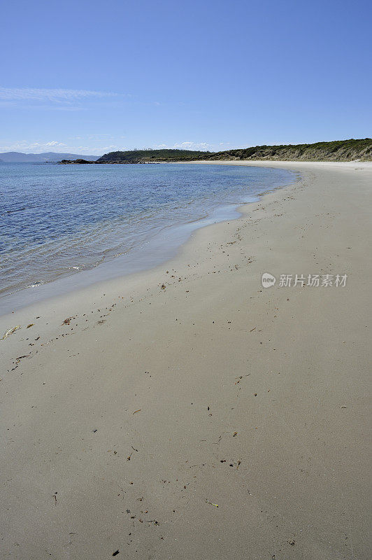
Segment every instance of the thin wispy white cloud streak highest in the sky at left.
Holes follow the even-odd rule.
[[[81,99],[94,99],[101,97],[117,97],[117,93],[113,92],[96,92],[90,90],[64,90],[64,89],[48,89],[36,87],[1,87],[0,99],[6,101],[38,101],[38,102],[55,102],[55,103],[71,103]]]

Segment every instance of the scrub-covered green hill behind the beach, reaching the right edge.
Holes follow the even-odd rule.
[[[88,156],[84,156],[84,159],[87,160]],[[96,163],[186,162],[194,160],[372,161],[372,139],[337,140],[316,142],[315,144],[253,146],[223,152],[190,150],[110,152],[96,159]]]

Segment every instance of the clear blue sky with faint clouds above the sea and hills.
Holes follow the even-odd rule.
[[[0,152],[371,137],[370,1],[1,8]]]

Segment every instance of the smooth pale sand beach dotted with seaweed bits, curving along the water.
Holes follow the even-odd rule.
[[[302,179],[0,319],[1,559],[371,558],[372,165],[261,165]]]

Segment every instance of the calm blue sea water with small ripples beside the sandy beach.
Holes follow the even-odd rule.
[[[294,177],[218,165],[0,163],[0,296],[134,253],[164,230],[171,239],[174,226]]]

